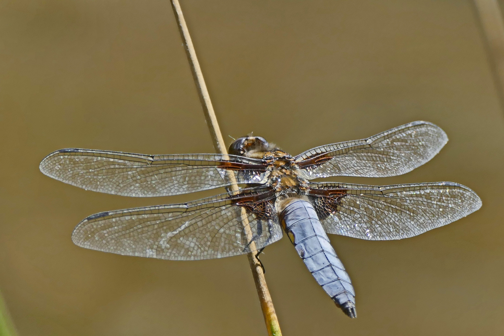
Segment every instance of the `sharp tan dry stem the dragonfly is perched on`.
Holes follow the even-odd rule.
[[[210,133],[212,135],[214,147],[217,152],[227,155],[226,145],[224,143],[224,139],[222,138],[219,123],[217,122],[217,118],[215,116],[212,101],[210,100],[210,95],[208,94],[205,79],[203,78],[200,63],[198,62],[198,58],[196,57],[196,51],[193,46],[193,41],[191,40],[191,36],[189,35],[187,25],[185,24],[180,4],[178,3],[178,0],[171,0],[171,5],[173,7],[173,12],[175,13],[175,18],[178,23],[178,29],[180,31],[180,35],[182,36],[182,40],[184,41],[185,51],[187,53],[187,59],[191,64],[191,70],[193,72],[193,77],[196,86],[198,88],[198,94],[200,96],[200,101],[203,107],[203,111],[205,113],[208,128],[210,129]],[[231,181],[234,182],[236,181],[234,173],[232,171],[228,173],[228,176]],[[236,185],[236,183],[233,183],[231,185],[231,190],[238,191],[238,186]],[[250,230],[248,217],[245,212],[245,209],[242,209],[241,219],[243,222],[243,226],[245,228],[245,232],[247,233],[247,238],[250,240],[252,238],[252,232]],[[256,250],[255,242],[252,242],[250,244],[250,249],[252,251]],[[270,292],[268,290],[268,286],[266,285],[266,279],[264,278],[263,270],[261,268],[259,261],[256,258],[256,252],[250,252],[248,253],[247,256],[248,256],[248,262],[250,264],[250,269],[252,271],[252,275],[254,276],[254,282],[256,283],[256,289],[259,295],[259,300],[261,301],[261,308],[263,310],[264,320],[266,323],[266,328],[268,329],[268,334],[270,336],[273,335],[281,336],[282,333],[280,331],[280,325],[278,323],[278,318],[275,313],[275,307],[273,306],[273,301],[271,300]]]

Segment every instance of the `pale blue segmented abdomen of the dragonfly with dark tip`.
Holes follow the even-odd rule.
[[[299,256],[327,294],[350,317],[356,317],[355,291],[309,201],[295,199],[281,213],[282,226]]]

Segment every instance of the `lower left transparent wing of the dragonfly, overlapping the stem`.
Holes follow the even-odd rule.
[[[282,237],[273,197],[271,191],[222,194],[186,204],[99,213],[83,220],[72,240],[95,250],[170,260],[248,253]]]

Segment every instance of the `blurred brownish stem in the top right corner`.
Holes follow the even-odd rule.
[[[497,0],[474,0],[486,37],[499,96],[504,100],[504,21]],[[504,101],[502,101],[504,106]]]

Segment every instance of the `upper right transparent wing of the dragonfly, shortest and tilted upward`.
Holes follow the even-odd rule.
[[[447,142],[443,129],[414,121],[367,139],[310,149],[296,156],[296,161],[311,178],[395,176],[423,165]]]

